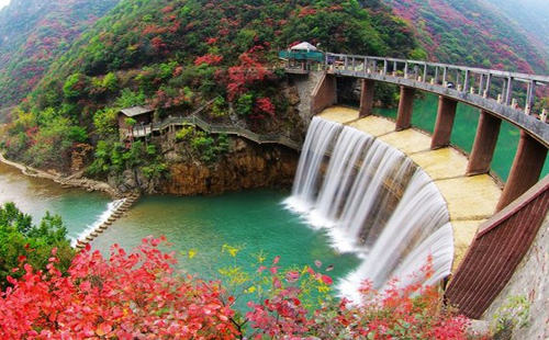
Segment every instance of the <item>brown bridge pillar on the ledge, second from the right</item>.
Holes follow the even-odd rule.
[[[501,126],[501,118],[481,110],[473,150],[469,156],[469,165],[467,166],[467,175],[486,173],[490,171],[490,165],[494,157]]]

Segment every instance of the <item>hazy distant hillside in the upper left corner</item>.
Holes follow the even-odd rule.
[[[12,0],[0,11],[0,107],[16,104],[52,61],[119,0]]]

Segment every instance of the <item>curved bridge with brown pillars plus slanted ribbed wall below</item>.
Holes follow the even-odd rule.
[[[311,93],[312,114],[337,103],[339,77],[362,80],[360,116],[372,113],[378,81],[400,86],[395,131],[411,127],[416,91],[439,95],[432,149],[450,144],[458,102],[480,109],[468,175],[490,171],[502,121],[520,129],[518,149],[496,214],[479,227],[446,292],[461,313],[481,317],[511,280],[549,211],[549,177],[539,181],[549,148],[549,125],[546,110],[538,107],[541,95],[547,93],[549,77],[330,53],[316,65],[289,60],[287,72],[305,75],[315,67],[322,77]]]

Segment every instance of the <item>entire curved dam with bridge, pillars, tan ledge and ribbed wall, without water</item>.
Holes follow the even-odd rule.
[[[540,180],[549,125],[548,112],[539,103],[549,77],[332,53],[326,53],[321,64],[299,55],[296,60],[291,58],[288,56],[285,67],[289,78],[301,88],[302,99],[310,94],[300,107],[305,122],[318,115],[376,136],[424,168],[442,193],[456,240],[447,301],[466,316],[481,318],[485,313],[485,317],[494,315],[509,292],[523,292],[533,304],[531,310],[547,316],[547,280],[538,276],[548,273],[549,263],[542,243],[548,234],[549,178]],[[394,122],[372,115],[378,83],[400,88]],[[358,88],[358,110],[334,107],[341,100],[340,88]],[[432,136],[411,129],[416,93],[438,97]],[[479,110],[469,155],[448,148],[458,103]],[[505,183],[490,175],[503,122],[519,132]],[[531,321],[535,326],[523,336],[549,336],[542,318]]]

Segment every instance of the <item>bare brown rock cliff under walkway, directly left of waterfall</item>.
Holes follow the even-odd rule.
[[[176,152],[176,151],[172,151]],[[171,155],[175,156],[175,155]],[[217,194],[254,188],[291,186],[299,154],[283,146],[231,140],[227,154],[212,165],[178,161],[159,191],[175,195]]]

